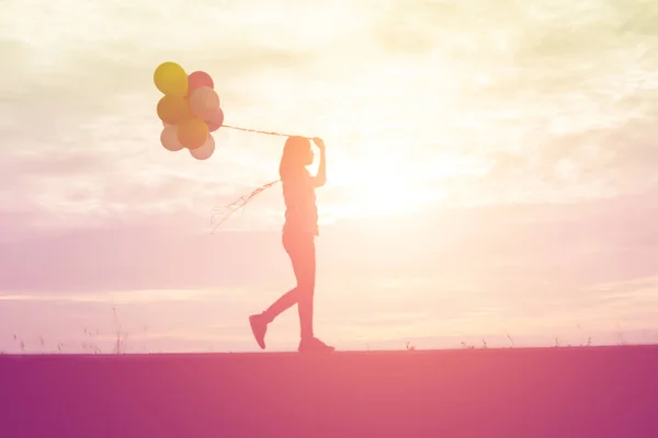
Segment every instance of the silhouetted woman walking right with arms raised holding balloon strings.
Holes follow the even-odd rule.
[[[313,163],[310,141],[305,137],[288,137],[284,147],[279,175],[283,183],[285,200],[285,223],[283,226],[283,247],[291,257],[297,286],[279,298],[268,310],[249,316],[253,336],[261,348],[265,348],[268,324],[297,304],[302,339],[298,351],[333,351],[313,333],[313,297],[315,291],[316,254],[315,237],[318,235],[318,212],[315,189],[327,181],[325,142],[314,138],[320,150],[320,164],[316,176],[306,170]]]

